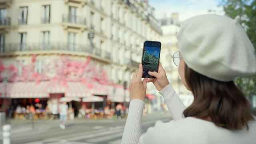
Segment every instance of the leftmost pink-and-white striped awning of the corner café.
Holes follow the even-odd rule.
[[[1,98],[48,98],[48,82],[0,83]]]

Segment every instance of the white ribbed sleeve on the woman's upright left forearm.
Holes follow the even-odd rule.
[[[121,144],[139,143],[142,130],[141,120],[144,105],[145,103],[143,100],[131,100]]]

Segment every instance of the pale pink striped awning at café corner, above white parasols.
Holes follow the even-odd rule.
[[[67,82],[65,96],[84,98],[92,96],[92,94],[87,85],[82,82]]]

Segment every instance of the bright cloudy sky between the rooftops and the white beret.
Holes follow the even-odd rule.
[[[224,15],[222,7],[218,7],[222,0],[148,0],[149,5],[155,8],[157,19],[171,16],[171,13],[179,13],[182,22],[192,16],[200,14],[216,13]],[[209,12],[215,10],[215,12]]]

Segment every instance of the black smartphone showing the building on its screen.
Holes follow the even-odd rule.
[[[143,44],[141,64],[143,66],[142,78],[155,78],[148,74],[149,71],[158,72],[161,42],[146,40]]]

